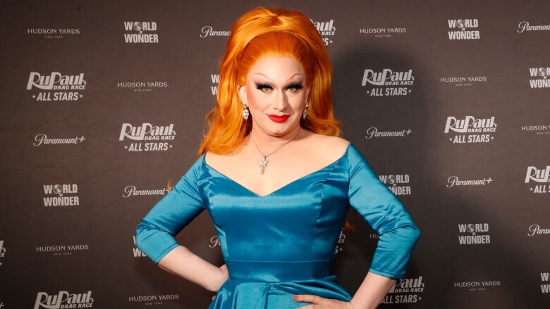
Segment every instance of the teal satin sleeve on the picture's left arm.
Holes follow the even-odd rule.
[[[176,234],[205,209],[197,186],[200,163],[200,159],[196,160],[139,222],[135,231],[136,246],[155,264],[178,246]]]

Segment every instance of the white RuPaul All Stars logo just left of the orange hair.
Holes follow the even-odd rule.
[[[124,144],[124,149],[128,151],[167,151],[172,148],[169,141],[173,141],[175,137],[176,130],[173,130],[173,123],[164,126],[150,123],[135,126],[131,123],[123,123],[118,140],[130,140],[129,145]]]

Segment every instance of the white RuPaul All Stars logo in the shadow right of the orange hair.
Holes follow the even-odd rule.
[[[365,69],[361,86],[368,87],[367,94],[370,96],[406,96],[412,91],[410,86],[414,82],[415,77],[412,75],[412,70],[384,69],[374,72],[374,70]]]

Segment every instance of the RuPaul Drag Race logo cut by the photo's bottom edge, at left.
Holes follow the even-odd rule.
[[[38,292],[33,308],[92,308],[93,305],[92,291],[85,294],[70,294],[68,291],[59,291],[57,294]]]

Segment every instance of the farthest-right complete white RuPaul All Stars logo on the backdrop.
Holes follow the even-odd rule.
[[[486,119],[475,118],[474,116],[458,119],[449,116],[447,117],[444,133],[451,131],[457,133],[448,139],[453,144],[489,143],[494,139],[491,133],[496,131],[496,123],[494,122],[494,116]]]

